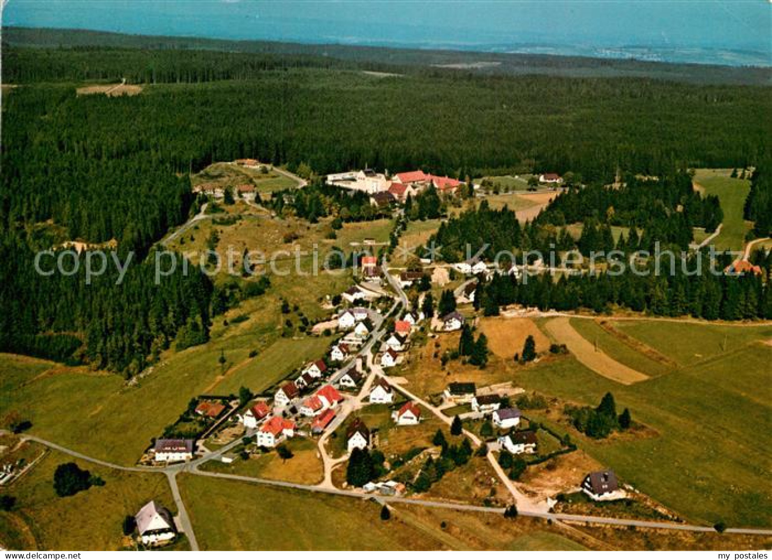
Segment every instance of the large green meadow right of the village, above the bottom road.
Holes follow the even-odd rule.
[[[668,342],[652,344],[665,354],[672,341],[696,345],[704,343],[704,329],[720,329],[678,325],[668,333],[670,325],[677,324],[647,324]],[[598,442],[565,425],[560,429],[570,430],[580,447],[638,490],[692,521],[769,526],[770,360],[772,348],[757,342],[630,386],[574,359],[538,365],[518,377],[528,390],[589,405],[611,391],[619,410],[629,407],[651,435]]]

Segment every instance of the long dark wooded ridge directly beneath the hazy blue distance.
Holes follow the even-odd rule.
[[[124,35],[82,29],[5,27],[4,45],[16,47],[83,49],[193,49],[271,55],[317,56],[355,62],[357,66],[457,69],[510,76],[547,75],[577,78],[637,77],[699,84],[769,86],[772,69],[757,67],[674,64],[642,60],[595,59],[581,56],[523,55],[453,50],[391,49],[384,47],[310,45],[293,42],[232,41],[150,35]]]

